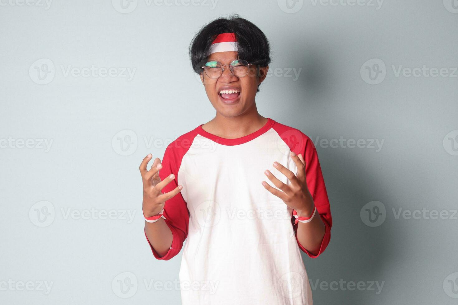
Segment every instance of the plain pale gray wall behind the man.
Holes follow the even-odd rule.
[[[319,258],[303,255],[315,304],[457,304],[458,1],[8,1],[2,304],[180,304],[179,289],[161,285],[178,280],[181,254],[153,258],[138,165],[213,118],[187,49],[231,13],[272,43],[259,112],[316,141],[333,228]],[[113,75],[78,75],[92,65]],[[91,209],[101,214],[85,217]]]

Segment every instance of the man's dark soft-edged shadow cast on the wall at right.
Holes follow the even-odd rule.
[[[305,98],[296,101],[295,107],[304,108],[305,100],[306,107],[314,108],[327,100],[329,86],[333,83],[333,62],[313,50],[307,50],[303,59],[298,59],[298,62],[304,67],[300,78],[300,94]],[[327,104],[329,103],[327,101]],[[297,124],[297,128],[313,130],[314,128],[309,125],[310,123]],[[335,135],[322,134],[322,137],[332,139]],[[368,300],[378,296],[376,292],[380,289],[376,284],[372,287],[375,291],[350,291],[346,289],[346,284],[344,289],[341,289],[339,281],[378,281],[380,284],[389,281],[383,278],[383,270],[396,259],[397,249],[394,244],[402,232],[396,232],[395,236],[387,223],[376,227],[365,225],[360,212],[368,202],[389,202],[392,199],[391,194],[388,186],[381,185],[378,174],[362,163],[359,154],[320,147],[317,147],[317,151],[331,205],[333,227],[331,241],[321,256],[312,259],[301,253],[310,280],[313,301],[315,304],[366,305]],[[374,154],[371,159],[376,161],[377,157],[378,155]],[[367,158],[365,160],[367,161]],[[377,186],[377,190],[374,190],[373,186]],[[374,194],[381,193],[379,190],[386,190],[384,197],[374,198]],[[331,282],[339,283],[337,290],[335,284],[333,289],[330,288]],[[386,288],[382,287],[381,294],[384,289]],[[375,303],[380,302],[381,298],[377,299]]]

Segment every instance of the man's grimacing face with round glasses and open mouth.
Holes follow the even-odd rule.
[[[237,57],[235,51],[217,52],[210,54],[206,62],[215,60],[221,64],[230,64],[238,59]],[[253,64],[249,66],[245,76],[237,77],[232,74],[229,66],[224,66],[223,74],[219,78],[210,78],[205,71],[202,71],[201,80],[216,112],[224,117],[235,117],[254,106],[257,87],[266,78],[267,70],[268,66],[259,67],[261,76],[257,76],[256,65]],[[235,90],[239,93],[220,94],[222,90]]]

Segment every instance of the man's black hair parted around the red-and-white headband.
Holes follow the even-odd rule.
[[[192,69],[202,73],[202,66],[210,52],[213,40],[221,33],[234,33],[238,44],[239,59],[245,59],[257,67],[266,67],[271,63],[270,45],[266,35],[252,22],[240,18],[238,14],[228,18],[218,18],[197,32],[189,46]],[[257,91],[259,92],[259,86]]]

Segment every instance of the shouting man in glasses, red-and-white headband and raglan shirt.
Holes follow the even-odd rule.
[[[187,238],[183,304],[312,304],[300,250],[325,250],[331,211],[311,139],[257,112],[269,53],[238,16],[203,27],[190,57],[215,118],[169,144],[162,162],[148,170],[149,154],[140,165],[154,257],[169,260]]]

